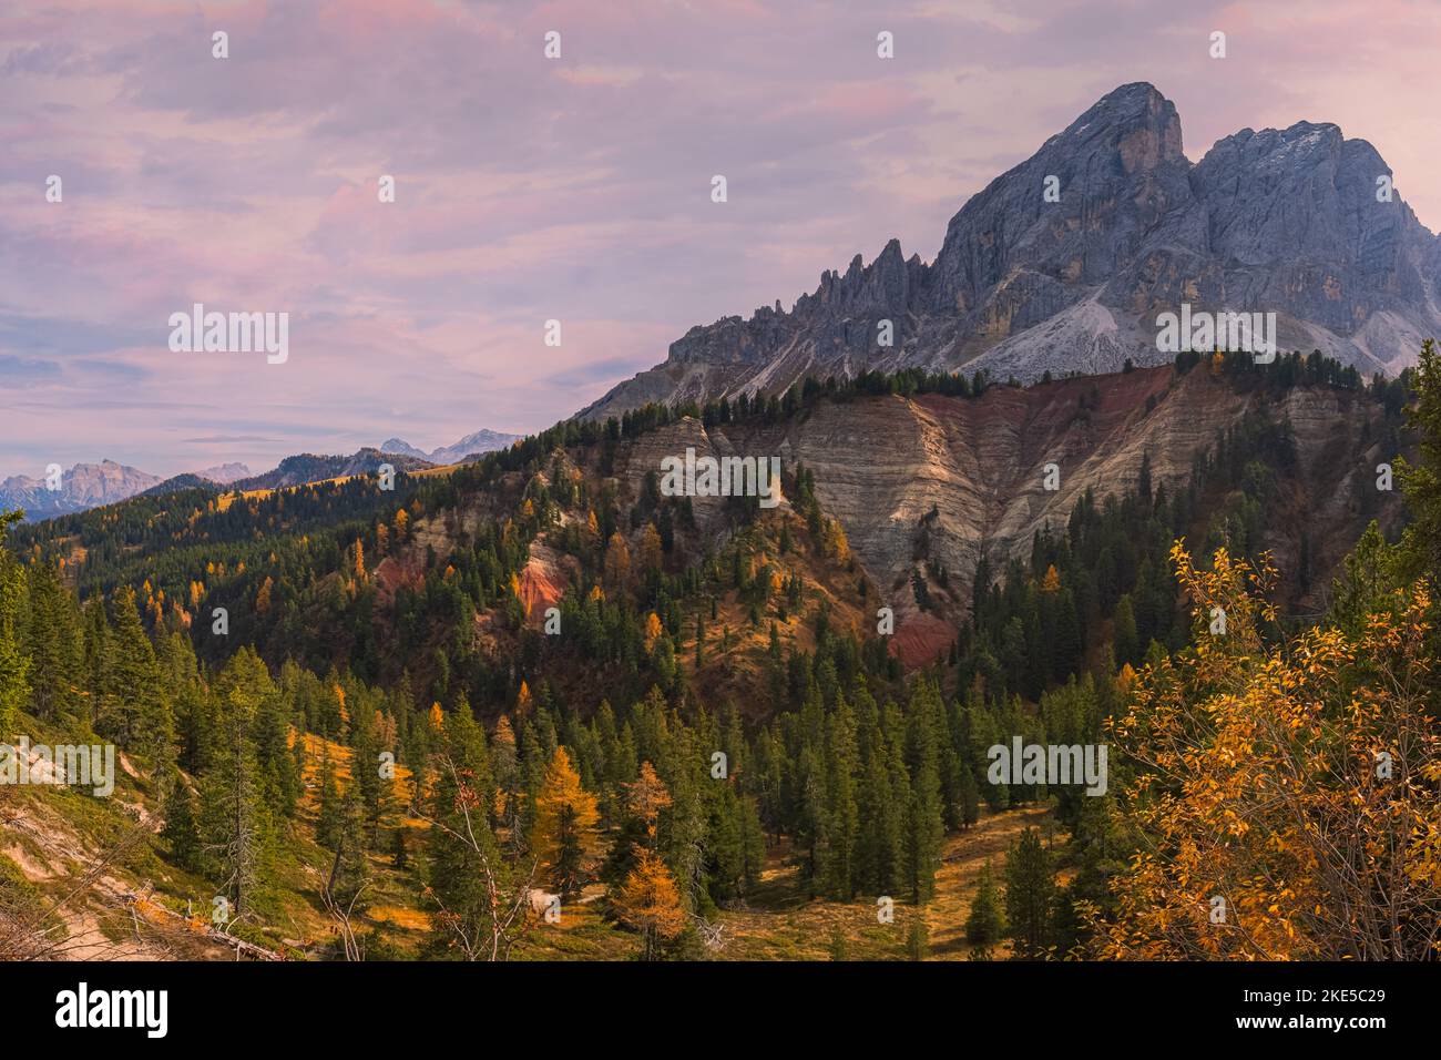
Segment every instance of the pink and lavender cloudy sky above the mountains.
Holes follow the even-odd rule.
[[[1435,0],[7,0],[0,477],[546,427],[892,237],[931,260],[1130,81],[1192,159],[1333,121],[1435,229],[1438,46]],[[288,362],[170,352],[195,301],[290,313]]]

